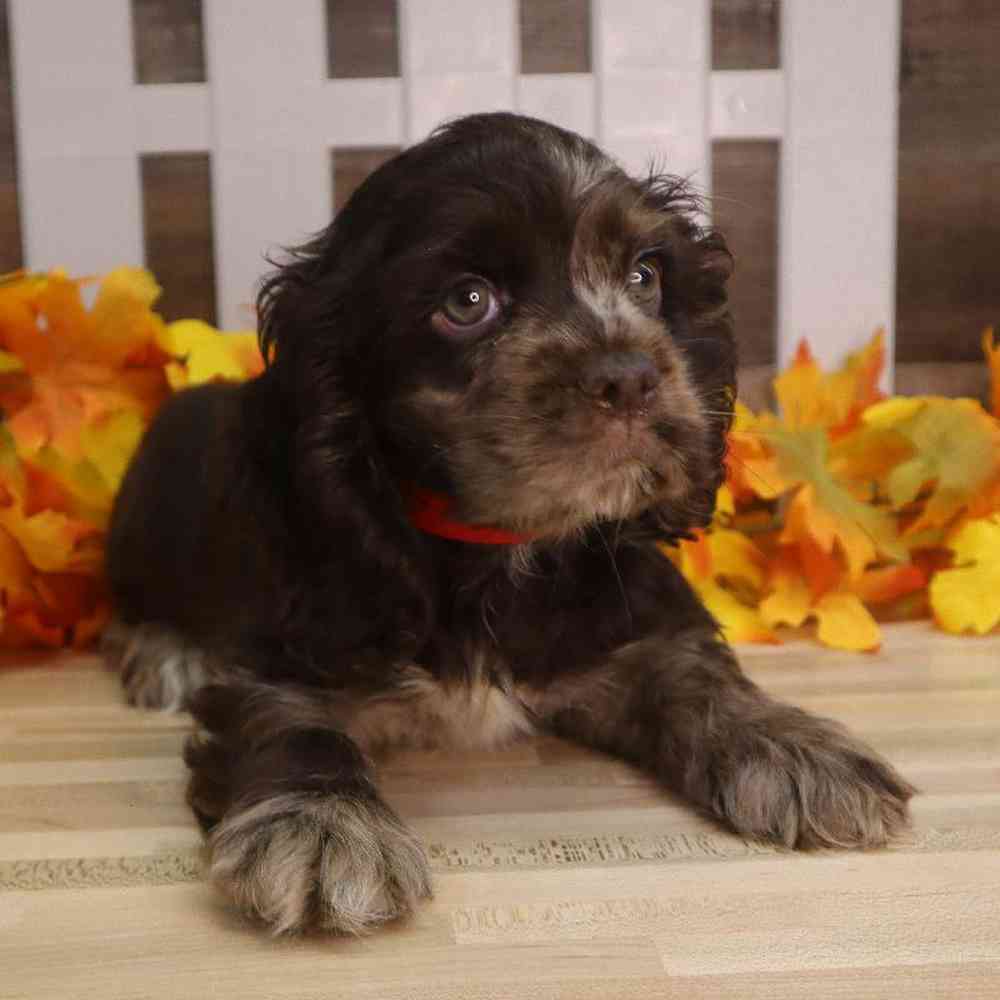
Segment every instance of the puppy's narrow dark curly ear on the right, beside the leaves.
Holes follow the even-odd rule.
[[[676,536],[708,524],[725,479],[726,440],[736,402],[737,352],[726,290],[733,255],[722,234],[702,223],[702,199],[682,179],[654,175],[645,184],[645,197],[671,221],[663,318],[684,352],[709,428],[703,469],[685,505],[687,523],[678,525],[672,513],[663,512],[661,529]]]

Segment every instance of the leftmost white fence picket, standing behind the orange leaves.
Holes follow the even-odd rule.
[[[143,259],[128,0],[12,0],[25,263]]]

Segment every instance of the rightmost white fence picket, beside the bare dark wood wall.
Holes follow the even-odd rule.
[[[891,359],[899,0],[783,7],[778,360],[842,360],[877,326]]]

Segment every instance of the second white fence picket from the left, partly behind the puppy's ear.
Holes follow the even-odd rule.
[[[205,0],[212,200],[223,325],[253,325],[266,253],[325,226],[328,150],[317,142],[326,49],[321,0]]]

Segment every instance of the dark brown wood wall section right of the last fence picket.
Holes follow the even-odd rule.
[[[904,0],[896,357],[974,361],[1000,325],[1000,4]]]

